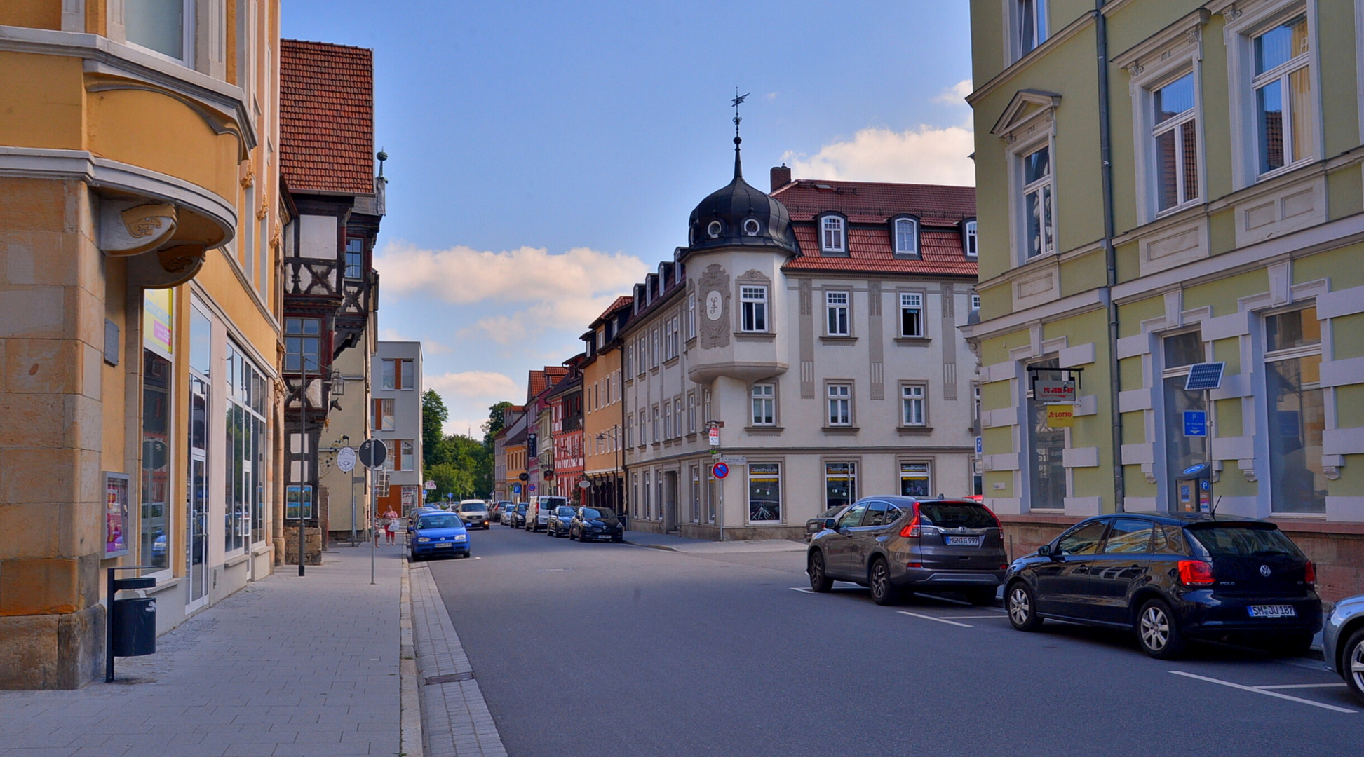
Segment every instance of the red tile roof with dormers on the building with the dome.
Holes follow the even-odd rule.
[[[824,188],[827,187],[827,188]],[[938,184],[881,184],[873,181],[822,181],[798,179],[772,192],[791,214],[801,254],[786,270],[881,271],[929,276],[979,273],[962,248],[962,221],[975,216],[974,187]],[[848,218],[848,254],[821,255],[814,218],[827,211]],[[919,228],[919,259],[895,256],[889,221],[915,216]]]

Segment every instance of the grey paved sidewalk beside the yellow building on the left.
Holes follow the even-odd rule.
[[[340,548],[186,621],[119,681],[0,692],[0,756],[398,754],[401,547]],[[165,600],[162,600],[165,602]]]

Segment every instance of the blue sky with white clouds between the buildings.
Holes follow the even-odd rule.
[[[383,338],[421,340],[464,432],[578,351],[745,177],[971,184],[967,3],[288,0],[284,35],[375,50]]]

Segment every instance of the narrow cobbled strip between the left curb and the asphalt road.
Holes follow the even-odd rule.
[[[408,581],[426,757],[506,757],[430,566],[411,566]]]

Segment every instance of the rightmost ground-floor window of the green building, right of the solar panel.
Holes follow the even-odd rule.
[[[1324,513],[1322,323],[1308,307],[1264,316],[1270,505],[1275,513]]]

